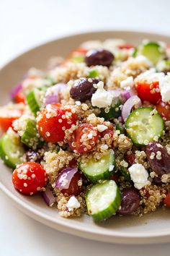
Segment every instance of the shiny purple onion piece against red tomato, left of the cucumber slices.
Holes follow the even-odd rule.
[[[68,189],[71,179],[73,178],[74,174],[78,172],[78,168],[66,168],[58,174],[58,177],[55,181],[55,187],[57,189]]]

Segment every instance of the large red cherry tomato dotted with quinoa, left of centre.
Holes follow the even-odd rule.
[[[37,121],[38,132],[47,142],[62,142],[65,130],[76,124],[77,116],[61,104],[51,104],[40,112]]]

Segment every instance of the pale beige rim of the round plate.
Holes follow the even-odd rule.
[[[17,56],[14,56],[14,58],[10,59],[7,61],[1,68],[0,72],[4,71],[10,64],[12,64],[13,61],[16,61],[20,57],[24,56],[24,54],[29,54],[31,51],[36,51],[37,48],[40,48],[42,46],[45,46],[49,43],[55,43],[55,41],[58,40],[67,40],[69,38],[73,38],[76,36],[82,36],[82,35],[89,35],[89,34],[97,34],[97,33],[130,33],[130,34],[145,34],[145,35],[153,35],[153,36],[164,36],[167,39],[170,36],[165,34],[165,33],[151,33],[149,31],[143,31],[143,30],[94,30],[94,31],[89,31],[89,32],[84,32],[84,33],[73,33],[71,35],[64,35],[58,38],[55,38],[53,40],[47,40],[44,43],[38,44],[35,47],[32,47],[28,49],[27,51],[23,51],[21,54],[18,54]],[[10,200],[13,202],[17,203],[17,208],[22,210],[22,212],[26,213],[29,215],[29,213],[32,213],[30,216],[31,218],[34,218],[37,221],[40,221],[41,223],[44,223],[47,226],[50,226],[53,229],[57,229],[59,231],[66,232],[68,234],[73,234],[76,236],[81,236],[84,238],[89,238],[89,239],[94,239],[102,242],[117,242],[120,244],[151,244],[151,243],[158,243],[158,242],[169,242],[170,239],[170,231],[160,231],[159,234],[153,233],[151,231],[147,232],[147,234],[114,234],[114,231],[112,231],[112,234],[108,234],[108,229],[102,230],[102,234],[97,232],[97,231],[92,231],[90,228],[85,228],[82,230],[81,226],[76,226],[75,224],[71,225],[71,223],[64,223],[64,218],[56,218],[55,223],[53,222],[53,218],[48,216],[45,213],[40,212],[39,210],[36,210],[32,208],[29,204],[24,202],[22,199],[17,197],[16,195],[12,194],[12,192],[7,189],[7,187],[4,186],[4,184],[0,181],[0,189],[4,194],[6,194]],[[53,226],[55,225],[55,226]],[[79,234],[76,234],[79,232]],[[97,235],[97,236],[96,236]]]

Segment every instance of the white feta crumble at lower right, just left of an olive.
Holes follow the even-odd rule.
[[[148,171],[146,171],[146,168],[142,164],[135,163],[133,166],[130,166],[128,170],[130,172],[130,178],[134,182],[136,189],[141,189],[149,184]]]

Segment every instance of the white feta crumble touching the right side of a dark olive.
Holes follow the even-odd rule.
[[[97,106],[98,108],[106,108],[112,104],[112,100],[112,93],[104,90],[104,82],[98,82],[97,91],[92,95],[91,98],[92,106]]]

